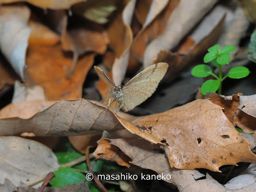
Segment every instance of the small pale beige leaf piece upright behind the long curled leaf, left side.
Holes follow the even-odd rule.
[[[28,87],[19,81],[15,81],[12,103],[22,103],[33,100],[45,100],[44,89],[38,85]]]

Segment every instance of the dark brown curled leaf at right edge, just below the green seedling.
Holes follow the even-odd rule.
[[[210,98],[214,104],[224,108],[224,114],[234,126],[240,127],[244,132],[255,130],[256,119],[238,109],[241,93],[233,96],[222,96],[217,93],[208,93],[206,98]]]

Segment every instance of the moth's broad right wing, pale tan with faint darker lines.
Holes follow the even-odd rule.
[[[123,86],[124,102],[122,109],[125,112],[132,110],[149,98],[155,92],[167,68],[167,63],[157,63],[149,66]]]

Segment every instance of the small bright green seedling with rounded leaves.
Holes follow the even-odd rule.
[[[232,79],[240,79],[244,78],[249,75],[250,71],[248,68],[243,66],[238,66],[231,68],[226,74],[226,76],[222,77],[222,66],[225,64],[228,64],[230,62],[230,55],[229,53],[234,51],[235,47],[232,45],[226,46],[220,50],[220,45],[216,44],[208,49],[208,53],[204,56],[204,62],[212,62],[212,64],[219,68],[219,76],[214,74],[212,72],[212,69],[205,64],[200,64],[195,66],[191,74],[195,77],[207,77],[209,75],[212,75],[216,78],[206,80],[201,86],[201,93],[203,95],[206,95],[208,92],[216,92],[218,90],[218,94],[221,94],[222,90],[222,81],[226,79],[227,77]]]

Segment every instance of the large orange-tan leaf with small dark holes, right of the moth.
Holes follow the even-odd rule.
[[[167,112],[147,116],[136,126],[117,116],[130,132],[161,144],[171,166],[193,170],[238,162],[256,162],[249,142],[240,136],[222,112],[209,100],[195,100]]]

